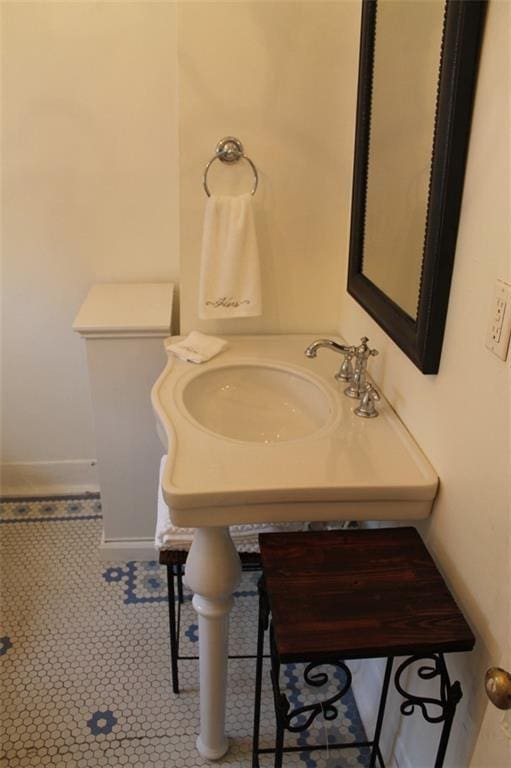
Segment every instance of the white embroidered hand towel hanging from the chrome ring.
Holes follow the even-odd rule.
[[[252,196],[212,195],[204,214],[199,318],[257,317],[261,311]]]

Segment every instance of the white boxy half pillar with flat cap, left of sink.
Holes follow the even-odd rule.
[[[106,559],[155,557],[161,445],[150,393],[173,297],[172,283],[93,285],[73,324],[87,351]]]

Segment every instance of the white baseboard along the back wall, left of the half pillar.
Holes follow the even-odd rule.
[[[0,495],[15,498],[98,493],[95,459],[19,461],[0,465]]]

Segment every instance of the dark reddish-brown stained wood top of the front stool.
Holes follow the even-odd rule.
[[[415,528],[269,533],[259,545],[283,662],[474,646]]]

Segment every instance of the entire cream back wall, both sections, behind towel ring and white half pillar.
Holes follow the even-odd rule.
[[[72,320],[94,282],[180,280],[183,328],[198,327],[201,177],[224,135],[260,173],[265,302],[229,330],[337,327],[360,6],[69,0],[2,16],[3,475],[74,484],[95,449]],[[251,182],[220,170],[215,191]]]

